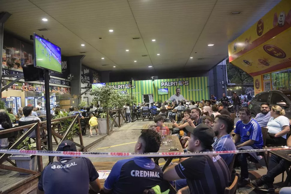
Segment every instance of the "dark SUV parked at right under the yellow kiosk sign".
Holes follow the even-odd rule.
[[[291,119],[291,90],[268,90],[257,94],[248,105],[253,118],[261,112],[262,103],[269,103],[270,107],[281,106],[286,112],[285,116]]]

